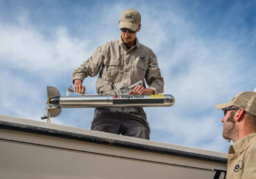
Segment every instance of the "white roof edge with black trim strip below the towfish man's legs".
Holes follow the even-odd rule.
[[[160,143],[153,140],[120,136],[101,131],[91,131],[5,115],[0,115],[0,128],[219,163],[226,163],[228,156],[217,151]]]

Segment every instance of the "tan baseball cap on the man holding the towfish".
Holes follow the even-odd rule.
[[[140,25],[141,17],[137,10],[127,9],[122,12],[121,19],[119,21],[119,29],[128,28],[136,31],[138,25]]]

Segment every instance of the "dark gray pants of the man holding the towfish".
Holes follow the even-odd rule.
[[[149,139],[149,124],[143,107],[95,108],[91,129]]]

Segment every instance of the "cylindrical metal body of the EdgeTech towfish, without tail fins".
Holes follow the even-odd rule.
[[[165,107],[174,104],[174,97],[170,94],[152,95],[120,95],[120,96],[61,96],[52,98],[61,108],[79,107]],[[51,102],[50,102],[51,103]]]

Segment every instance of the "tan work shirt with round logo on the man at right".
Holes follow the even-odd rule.
[[[241,138],[228,151],[226,179],[256,178],[256,132]]]

